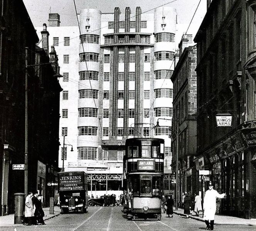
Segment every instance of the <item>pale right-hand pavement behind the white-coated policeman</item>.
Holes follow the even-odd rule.
[[[179,208],[178,210],[175,210],[173,208],[173,213],[178,214],[180,216],[186,216],[184,214],[184,209]],[[195,216],[195,213],[189,215],[189,218],[203,221],[203,214],[199,213],[199,216]],[[256,219],[244,219],[244,218],[237,218],[233,216],[225,216],[225,215],[215,215],[214,224],[219,225],[249,225],[249,226],[256,226]]]

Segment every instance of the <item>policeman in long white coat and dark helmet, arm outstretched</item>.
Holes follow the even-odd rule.
[[[207,230],[213,230],[214,217],[216,212],[216,198],[224,198],[226,193],[219,194],[213,189],[213,183],[209,182],[209,189],[204,196],[204,221]]]

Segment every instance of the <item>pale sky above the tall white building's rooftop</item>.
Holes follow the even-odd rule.
[[[178,23],[183,32],[187,30],[190,20],[193,17],[195,9],[200,1],[197,12],[188,30],[188,34],[197,32],[206,12],[206,0],[89,0],[89,8],[101,10],[102,13],[114,12],[115,7],[119,7],[122,13],[125,13],[125,7],[131,8],[131,13],[135,13],[137,6],[141,7],[142,12],[153,13],[154,8],[166,4],[177,10]],[[88,0],[23,0],[34,27],[40,27],[43,23],[48,24],[49,13],[59,13],[61,26],[77,25],[77,12],[87,8]]]

